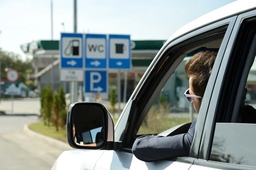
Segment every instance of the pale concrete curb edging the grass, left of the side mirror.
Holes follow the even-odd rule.
[[[52,147],[58,148],[59,150],[63,150],[63,151],[73,150],[73,148],[70,147],[70,145],[65,142],[59,141],[57,139],[53,139],[51,137],[48,137],[48,136],[42,135],[40,133],[36,133],[33,130],[30,130],[28,125],[23,126],[23,133],[32,138],[39,139],[40,141],[42,141],[46,144],[49,144]]]

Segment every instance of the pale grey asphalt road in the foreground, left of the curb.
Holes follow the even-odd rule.
[[[62,153],[23,133],[23,125],[33,122],[37,116],[0,116],[1,170],[50,170]]]

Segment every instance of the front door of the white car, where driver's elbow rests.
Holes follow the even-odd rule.
[[[137,159],[132,154],[131,147],[135,139],[140,135],[157,135],[179,123],[183,123],[184,120],[180,121],[180,116],[181,118],[183,116],[186,117],[189,112],[194,117],[187,119],[188,122],[195,119],[197,114],[195,111],[195,114],[191,114],[193,112],[192,105],[184,103],[183,97],[180,95],[184,93],[182,92],[183,89],[188,88],[189,85],[184,74],[184,62],[198,51],[212,50],[218,52],[218,55],[206,88],[205,93],[207,95],[202,102],[200,116],[198,116],[200,121],[197,122],[194,136],[198,141],[201,141],[204,118],[207,115],[215,86],[213,82],[216,81],[235,20],[236,16],[208,24],[195,31],[189,31],[186,35],[180,36],[175,40],[166,42],[141,79],[116,124],[114,139],[119,144],[116,145],[115,150],[104,151],[96,163],[95,170],[188,170],[191,167],[198,156],[200,146],[198,143],[192,144],[189,157],[170,158],[155,162],[144,162]],[[156,106],[154,105],[155,103],[165,104]],[[167,110],[172,108],[173,112],[175,112],[176,108],[176,112],[169,113],[169,110],[165,110],[163,113],[168,114],[164,116],[152,112],[152,108],[160,111],[159,109],[163,108],[163,106]],[[164,127],[159,126],[163,121],[166,122],[167,119],[171,120],[173,117],[175,117],[175,120],[179,118],[179,121],[172,124],[167,123]],[[145,126],[147,123],[148,125]]]

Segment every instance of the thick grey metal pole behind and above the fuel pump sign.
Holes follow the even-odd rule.
[[[77,2],[76,0],[74,0],[74,33],[77,32]],[[77,82],[74,82],[72,81],[71,82],[71,98],[70,98],[70,103],[73,103],[73,102],[77,102],[77,99],[78,99],[78,94],[77,94],[77,90],[78,90],[78,83]]]

